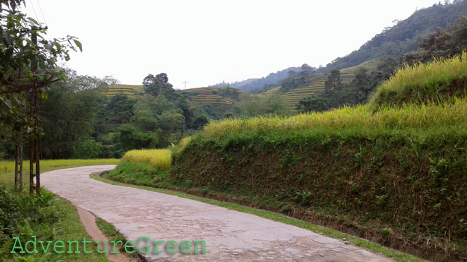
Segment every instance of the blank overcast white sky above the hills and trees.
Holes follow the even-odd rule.
[[[42,14],[40,12],[42,8]],[[140,85],[167,73],[175,88],[260,78],[289,66],[325,66],[434,0],[25,0],[47,37],[73,35],[79,74]]]

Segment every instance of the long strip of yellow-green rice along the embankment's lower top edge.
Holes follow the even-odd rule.
[[[431,126],[467,127],[467,100],[457,98],[442,104],[381,107],[342,107],[329,112],[299,114],[294,117],[252,117],[224,119],[204,127],[207,136],[226,136],[243,131],[303,131],[306,129],[425,129]]]

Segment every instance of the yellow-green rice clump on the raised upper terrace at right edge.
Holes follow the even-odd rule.
[[[370,105],[378,109],[381,106],[442,102],[451,97],[466,97],[466,86],[467,54],[463,52],[451,59],[405,65],[376,90]]]

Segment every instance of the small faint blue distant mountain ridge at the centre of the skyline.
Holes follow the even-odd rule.
[[[284,80],[285,78],[289,77],[289,71],[300,72],[301,67],[289,67],[288,69],[284,69],[282,71],[277,71],[277,73],[270,73],[266,77],[263,78],[250,78],[244,81],[235,82],[235,83],[218,83],[212,86],[224,86],[229,85],[233,88],[238,88],[240,90],[250,92],[250,93],[259,93],[259,90],[262,89],[265,85],[274,85],[275,83]],[[258,90],[255,92],[255,90]]]

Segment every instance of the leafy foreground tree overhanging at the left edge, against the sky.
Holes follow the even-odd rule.
[[[0,2],[0,131],[11,134],[4,139],[15,139],[21,133],[40,136],[35,121],[25,117],[28,112],[25,91],[39,87],[40,96],[45,97],[45,86],[64,80],[57,61],[68,61],[70,50],[81,50],[81,42],[75,37],[46,40],[47,29],[19,11],[22,3]],[[32,41],[34,37],[37,44]]]

